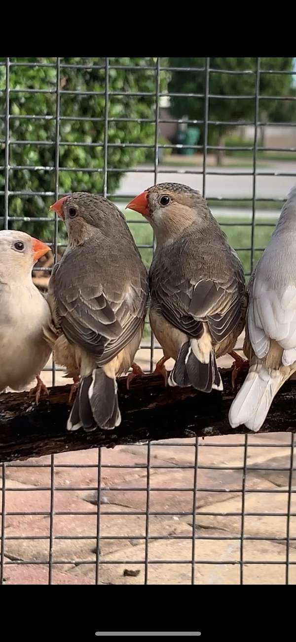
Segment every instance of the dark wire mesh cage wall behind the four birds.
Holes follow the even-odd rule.
[[[263,144],[270,126],[296,132],[285,111],[295,106],[295,71],[268,66],[281,58],[235,59],[251,61],[238,69],[174,60],[1,58],[2,229],[39,236],[56,260],[67,241],[48,208],[63,193],[97,191],[124,209],[153,183],[185,182],[206,196],[249,275],[295,180],[295,137]],[[289,82],[265,92],[266,79],[283,76]],[[174,91],[182,77],[184,91]],[[215,92],[215,79],[238,77],[247,92]],[[183,114],[195,101],[201,116],[180,116],[178,101]],[[224,117],[227,101],[242,116]],[[284,116],[269,122],[266,105],[279,103]],[[201,137],[180,143],[175,132],[172,142],[168,125],[198,127]],[[215,137],[223,127],[249,127],[252,139]],[[199,164],[176,157],[192,149]],[[148,266],[151,229],[135,213],[127,220]],[[38,266],[37,279],[38,270],[50,268]],[[149,371],[161,352],[148,325],[141,350]],[[47,370],[60,381],[54,364]],[[1,584],[296,583],[293,435],[186,438],[1,466]]]

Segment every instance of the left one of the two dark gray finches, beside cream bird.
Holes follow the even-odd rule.
[[[51,208],[69,245],[54,266],[49,304],[54,356],[81,382],[67,428],[112,429],[121,418],[116,377],[133,367],[144,328],[148,276],[120,210],[103,196],[74,193]]]

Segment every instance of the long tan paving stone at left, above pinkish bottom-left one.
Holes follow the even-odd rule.
[[[117,510],[117,507],[110,507]],[[49,517],[27,516],[10,517],[10,526],[5,530],[5,555],[10,559],[38,561],[47,560],[49,556]],[[106,554],[124,548],[133,548],[142,544],[145,538],[145,516],[112,516],[101,515],[100,535],[108,539],[100,539],[100,553]],[[192,527],[174,517],[151,517],[149,530],[152,536],[170,537],[171,535],[192,536]],[[72,563],[81,560],[95,561],[97,516],[83,515],[58,516],[53,519],[54,555],[53,560],[67,560]],[[34,539],[23,539],[32,537]],[[67,539],[59,539],[60,537]],[[17,539],[10,539],[10,538]],[[44,539],[46,537],[47,539]],[[79,537],[79,539],[72,539]],[[122,539],[124,537],[124,539]],[[138,539],[141,537],[142,539]],[[39,538],[39,539],[38,539]],[[82,539],[81,539],[82,538]],[[113,539],[110,539],[113,538]],[[135,539],[133,539],[135,538]]]

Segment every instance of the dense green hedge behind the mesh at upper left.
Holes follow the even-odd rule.
[[[5,58],[0,58],[4,62]],[[62,65],[89,65],[86,69],[61,67],[60,89],[62,92],[87,91],[99,94],[60,94],[60,144],[59,171],[60,193],[89,191],[101,193],[104,166],[104,88],[105,70],[94,65],[104,65],[104,58],[62,58]],[[147,92],[156,89],[154,69],[142,69],[144,65],[155,65],[155,58],[110,58],[108,143],[154,143],[154,124],[147,122],[116,121],[117,118],[154,118],[154,96],[116,96],[112,92]],[[10,191],[54,191],[56,153],[56,58],[10,58],[10,166],[27,166],[28,169],[10,169]],[[53,66],[15,66],[13,62],[52,64]],[[125,65],[136,65],[136,69],[125,69]],[[0,113],[5,111],[5,67],[0,67]],[[165,82],[165,80],[163,80]],[[41,93],[15,92],[15,89],[40,89]],[[162,84],[162,89],[163,89]],[[49,90],[49,92],[44,92]],[[28,116],[21,118],[21,116]],[[30,116],[38,116],[33,119]],[[83,117],[68,120],[64,117]],[[0,121],[0,139],[5,137],[5,123]],[[26,141],[26,144],[13,144]],[[40,141],[33,144],[33,141]],[[73,143],[73,145],[71,145]],[[75,144],[74,144],[75,143]],[[77,143],[81,143],[77,145]],[[85,143],[90,144],[86,146]],[[108,173],[108,193],[115,193],[124,169],[145,159],[147,150],[140,147],[110,146],[108,168],[119,169]],[[4,143],[0,144],[0,165],[4,165]],[[37,169],[29,169],[36,166]],[[38,169],[46,167],[53,169]],[[79,171],[89,168],[92,171]],[[98,170],[98,171],[95,171]],[[4,172],[0,172],[0,190],[4,189]],[[10,196],[10,216],[51,216],[48,211],[53,196]],[[4,197],[0,195],[0,213],[3,215]],[[53,223],[24,223],[15,221],[14,227],[50,239]]]

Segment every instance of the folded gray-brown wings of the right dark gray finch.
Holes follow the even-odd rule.
[[[231,250],[227,258],[224,252],[223,258],[224,269],[220,273],[217,270],[217,276],[210,275],[215,263],[210,255],[208,266],[199,263],[196,257],[195,263],[191,259],[193,276],[190,275],[190,261],[184,257],[187,278],[184,273],[178,274],[171,261],[161,261],[161,265],[152,266],[152,295],[158,300],[163,316],[192,338],[199,338],[203,332],[202,322],[208,322],[215,342],[222,342],[240,322],[245,293],[243,268]],[[198,272],[196,265],[200,266]],[[203,273],[209,276],[204,277]]]

